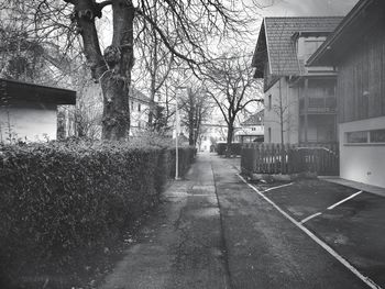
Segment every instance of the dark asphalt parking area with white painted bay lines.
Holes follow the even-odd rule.
[[[385,287],[385,198],[319,179],[252,186]]]

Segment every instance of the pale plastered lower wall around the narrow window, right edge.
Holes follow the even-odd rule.
[[[385,116],[341,123],[340,176],[341,178],[385,188],[385,144],[346,145],[344,133],[385,127]]]

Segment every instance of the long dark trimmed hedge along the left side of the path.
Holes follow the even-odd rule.
[[[179,155],[184,174],[195,149]],[[122,143],[0,146],[0,271],[105,248],[158,202],[174,162],[175,149]]]

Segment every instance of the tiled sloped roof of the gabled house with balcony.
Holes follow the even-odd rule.
[[[319,33],[328,35],[341,22],[342,16],[311,18],[265,18],[253,56],[256,77],[263,77],[263,64],[270,60],[272,75],[302,75],[297,58],[295,35],[298,33]]]

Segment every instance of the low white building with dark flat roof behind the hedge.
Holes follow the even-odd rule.
[[[76,92],[0,78],[0,142],[56,140],[61,104],[76,104]]]

